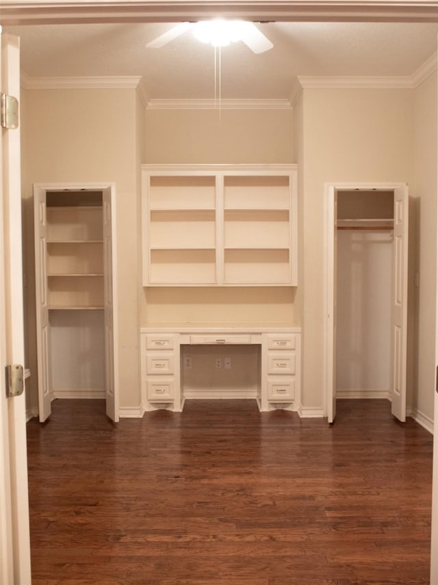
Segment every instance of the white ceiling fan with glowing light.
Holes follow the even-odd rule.
[[[151,40],[151,42],[148,42],[146,47],[149,49],[164,47],[168,42],[171,42],[190,29],[192,29],[194,36],[198,40],[209,43],[214,47],[224,47],[237,40],[242,40],[253,53],[264,53],[264,51],[269,51],[269,49],[274,47],[272,42],[270,42],[254,23],[224,20],[179,23],[164,34]]]

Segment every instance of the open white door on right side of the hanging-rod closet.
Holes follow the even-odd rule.
[[[393,253],[393,338],[391,373],[391,412],[399,421],[406,420],[407,376],[407,295],[408,295],[408,214],[407,187],[394,190]]]

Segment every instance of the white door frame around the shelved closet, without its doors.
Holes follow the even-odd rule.
[[[114,182],[107,182],[107,183],[35,183],[34,184],[34,197],[35,194],[38,192],[47,192],[47,191],[64,191],[64,190],[99,190],[99,191],[110,191],[111,193],[111,208],[112,208],[112,223],[111,223],[111,240],[112,240],[112,247],[111,247],[111,261],[112,261],[112,340],[113,340],[113,382],[114,382],[114,392],[112,393],[112,408],[111,411],[114,411],[115,417],[114,422],[118,422],[119,420],[119,410],[120,410],[120,393],[119,393],[119,355],[118,355],[118,264],[117,264],[117,240],[116,240],[116,214],[114,210],[116,209],[116,184]],[[40,276],[38,275],[38,266],[36,266],[36,316],[37,316],[37,323],[40,322]],[[106,323],[106,319],[105,319]],[[38,336],[38,332],[37,332]],[[106,339],[105,339],[106,343]],[[38,347],[40,346],[40,340],[38,340]],[[42,359],[40,358],[40,349],[38,349],[38,369],[40,369]],[[105,360],[106,360],[107,352],[105,351]],[[38,371],[38,397],[40,397],[40,380],[42,376],[40,371]],[[105,382],[105,400],[107,401],[108,394],[106,392],[106,384]]]

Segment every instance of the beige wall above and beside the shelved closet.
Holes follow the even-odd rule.
[[[115,182],[120,406],[140,405],[138,379],[138,97],[134,89],[23,91],[27,360],[36,373],[32,184]],[[32,377],[36,400],[36,375]]]

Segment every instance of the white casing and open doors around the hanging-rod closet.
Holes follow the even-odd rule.
[[[394,190],[394,362],[391,368],[391,412],[400,421],[406,419],[407,399],[407,277],[408,277],[408,206],[409,190],[406,184],[385,183],[330,183],[325,186],[326,205],[326,250],[324,260],[325,284],[325,344],[324,360],[326,373],[326,415],[329,423],[335,419],[336,392],[336,349],[335,349],[335,310],[336,310],[336,211],[335,194],[337,190]],[[396,243],[397,242],[397,243]]]

